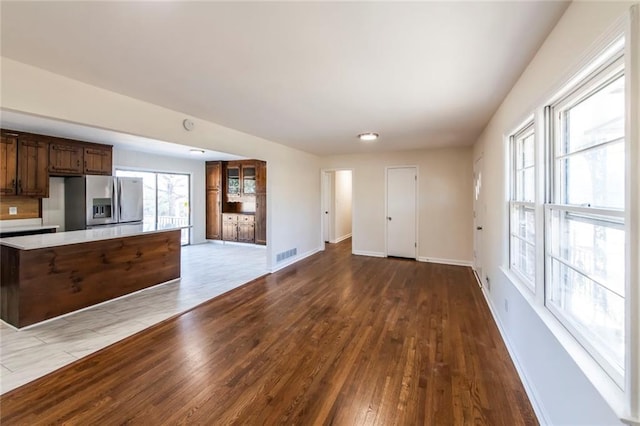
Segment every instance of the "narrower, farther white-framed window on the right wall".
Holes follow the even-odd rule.
[[[535,130],[533,121],[510,137],[509,267],[535,289]]]

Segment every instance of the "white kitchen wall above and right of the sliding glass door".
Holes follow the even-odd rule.
[[[150,170],[154,172],[186,173],[191,176],[191,244],[205,239],[205,164],[202,160],[188,160],[153,155],[145,152],[114,148],[113,169]]]

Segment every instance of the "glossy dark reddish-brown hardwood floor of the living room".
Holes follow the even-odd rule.
[[[471,269],[351,242],[0,398],[12,424],[537,424]]]

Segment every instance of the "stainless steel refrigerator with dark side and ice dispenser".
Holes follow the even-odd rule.
[[[142,178],[69,177],[64,197],[67,231],[142,222]]]

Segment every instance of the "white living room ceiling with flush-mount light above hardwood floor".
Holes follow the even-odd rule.
[[[319,155],[465,146],[567,5],[2,1],[1,49]]]

